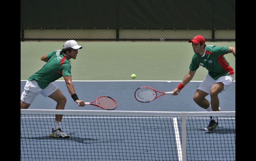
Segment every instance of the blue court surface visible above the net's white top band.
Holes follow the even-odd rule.
[[[140,103],[134,92],[141,86],[149,86],[159,91],[172,91],[179,81],[73,81],[79,99],[91,102],[99,96],[109,96],[116,100],[118,111],[172,111],[172,112],[205,112],[194,101],[193,95],[201,81],[190,82],[178,96],[161,96],[150,103]],[[21,94],[26,81],[21,81]],[[66,110],[102,110],[94,106],[83,108],[76,106],[66,88],[64,81],[55,81],[67,98]],[[219,95],[221,111],[235,111],[235,82],[227,91]],[[210,100],[209,95],[206,96]],[[36,97],[29,109],[55,109],[56,102],[42,95]]]

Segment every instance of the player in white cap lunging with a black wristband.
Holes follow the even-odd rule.
[[[56,110],[64,110],[66,97],[61,90],[53,83],[57,79],[64,77],[68,92],[79,106],[85,106],[84,101],[79,100],[71,79],[70,59],[76,59],[78,49],[82,46],[78,45],[75,40],[68,40],[64,43],[62,50],[55,50],[41,57],[41,60],[47,62],[39,71],[29,77],[24,91],[21,95],[21,109],[28,109],[35,97],[42,94],[57,102]],[[69,138],[61,130],[61,121],[63,115],[56,115],[54,127],[51,137]]]

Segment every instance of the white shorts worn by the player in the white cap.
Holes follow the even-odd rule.
[[[21,101],[31,104],[37,95],[41,94],[44,97],[48,97],[53,94],[58,87],[52,82],[45,89],[38,86],[37,81],[27,81],[24,87],[24,91],[21,94]]]

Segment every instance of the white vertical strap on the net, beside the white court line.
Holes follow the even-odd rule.
[[[186,134],[187,134],[187,129],[186,129],[186,112],[182,112],[182,161],[186,161],[187,159],[187,151],[186,151]]]

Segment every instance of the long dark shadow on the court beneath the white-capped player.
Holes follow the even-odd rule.
[[[36,140],[65,140],[65,141],[75,141],[82,144],[93,144],[93,143],[100,143],[100,142],[120,142],[123,139],[92,139],[92,138],[81,138],[77,136],[70,136],[69,138],[55,138],[47,136],[40,136],[40,137],[21,137],[21,139],[36,139]]]

